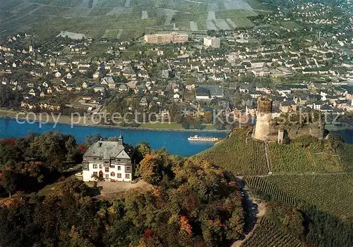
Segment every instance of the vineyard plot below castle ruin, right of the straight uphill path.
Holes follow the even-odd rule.
[[[340,172],[343,167],[336,153],[325,148],[325,142],[289,145],[269,144],[272,172]]]

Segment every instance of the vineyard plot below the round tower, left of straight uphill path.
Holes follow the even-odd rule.
[[[265,144],[247,137],[249,129],[234,130],[225,139],[200,155],[235,175],[263,175],[268,173]]]

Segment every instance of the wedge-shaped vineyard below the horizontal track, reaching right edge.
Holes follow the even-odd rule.
[[[255,194],[286,203],[316,205],[337,217],[353,216],[353,175],[272,175],[247,177]]]

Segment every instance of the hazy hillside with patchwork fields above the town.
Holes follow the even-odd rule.
[[[1,34],[35,32],[51,37],[67,30],[88,37],[127,39],[157,30],[205,31],[253,27],[267,13],[256,0],[4,0]]]

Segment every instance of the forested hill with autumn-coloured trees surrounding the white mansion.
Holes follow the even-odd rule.
[[[138,144],[134,158],[142,160],[136,174],[152,188],[97,201],[92,196],[99,187],[61,172],[66,166],[59,164],[84,150],[71,136],[48,132],[6,139],[0,148],[8,154],[0,160],[0,188],[17,191],[16,197],[0,198],[1,246],[230,246],[244,236],[235,177],[207,160]],[[54,172],[63,177],[46,196],[29,194]],[[24,186],[30,182],[35,186]]]

